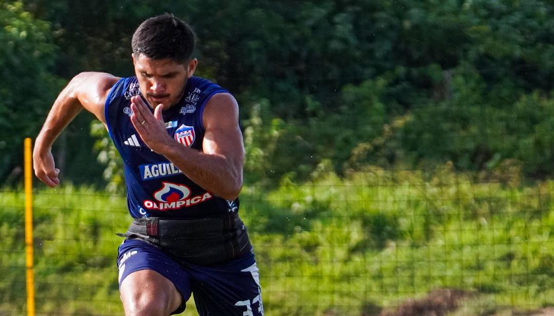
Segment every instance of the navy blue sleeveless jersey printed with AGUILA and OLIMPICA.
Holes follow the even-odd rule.
[[[204,106],[219,92],[227,91],[201,77],[188,79],[181,100],[162,112],[175,146],[202,151]],[[146,146],[130,120],[134,95],[141,95],[137,78],[122,78],[111,88],[104,109],[108,132],[123,159],[131,216],[194,219],[237,212],[238,199],[227,201],[213,195]]]

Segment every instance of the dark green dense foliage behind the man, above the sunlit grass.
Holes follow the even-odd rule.
[[[552,175],[550,2],[2,3],[0,36],[22,44],[4,45],[0,60],[27,60],[3,68],[13,85],[3,88],[8,102],[0,105],[10,113],[2,121],[9,137],[33,135],[43,121],[59,85],[41,77],[69,80],[83,70],[131,75],[133,30],[146,17],[172,12],[198,35],[197,74],[239,100],[249,182],[305,180],[321,162],[338,174],[452,161],[459,170],[509,166],[529,177]],[[33,80],[53,86],[27,89]],[[34,112],[24,128],[14,122],[27,112],[12,108]],[[73,182],[100,179],[95,155],[83,149],[93,147],[90,120],[79,117],[60,146]],[[7,152],[19,146],[18,139],[2,141]],[[97,145],[109,162],[109,142]],[[16,157],[3,156],[2,174],[19,164]],[[119,170],[111,165],[108,177]]]

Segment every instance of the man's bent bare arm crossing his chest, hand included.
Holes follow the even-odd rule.
[[[131,102],[131,122],[150,149],[167,157],[209,192],[226,200],[237,198],[243,183],[244,144],[238,104],[232,95],[213,95],[204,107],[203,152],[185,147],[167,134],[161,105],[152,115],[140,97]]]

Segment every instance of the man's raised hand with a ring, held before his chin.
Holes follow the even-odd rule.
[[[140,96],[131,97],[131,123],[146,146],[158,154],[163,154],[163,149],[171,146],[173,142],[163,122],[162,108],[162,104],[156,106],[152,115],[150,108]]]

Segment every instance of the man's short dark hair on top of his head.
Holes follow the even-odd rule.
[[[191,59],[195,40],[187,23],[166,13],[142,22],[133,34],[131,47],[137,56],[184,63]]]

